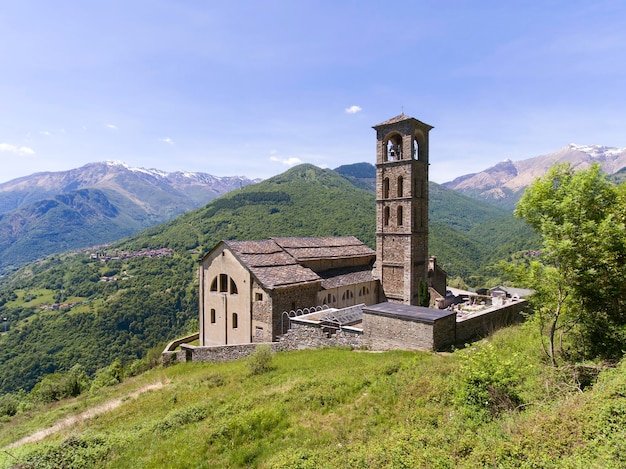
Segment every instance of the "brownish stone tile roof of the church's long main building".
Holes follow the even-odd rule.
[[[322,281],[326,285],[348,285],[371,280],[371,268],[328,271],[323,278],[300,262],[375,256],[354,236],[320,238],[270,238],[256,241],[224,241],[239,261],[269,289]],[[332,288],[332,287],[325,287]]]

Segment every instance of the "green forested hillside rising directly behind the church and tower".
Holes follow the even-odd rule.
[[[430,252],[451,277],[483,286],[494,275],[487,266],[531,247],[512,220],[431,185]],[[374,247],[374,195],[302,165],[107,248],[55,255],[0,278],[9,328],[0,338],[0,393],[28,390],[76,363],[89,373],[116,358],[128,363],[197,330],[196,263],[221,239],[327,235]]]

